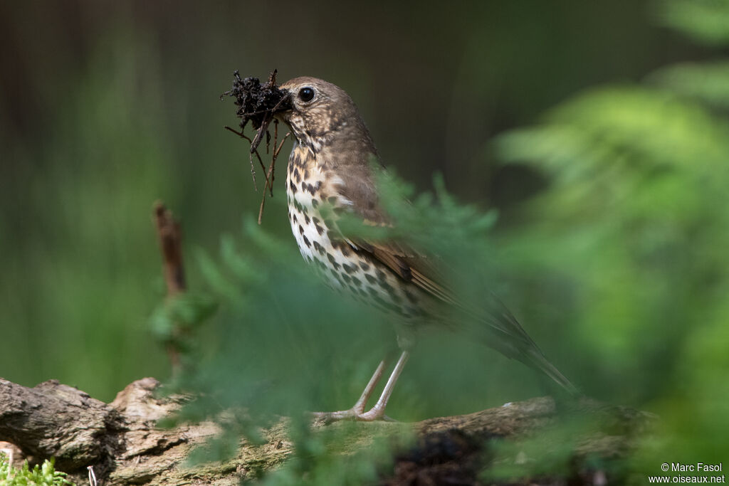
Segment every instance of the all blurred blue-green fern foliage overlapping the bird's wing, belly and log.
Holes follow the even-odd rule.
[[[485,236],[494,225],[494,214],[459,205],[439,178],[436,192],[419,195],[412,205],[402,203],[412,188],[392,175],[380,182],[384,204],[397,220],[396,227],[373,229],[361,223],[356,227],[356,222],[345,220],[346,227],[373,238],[408,237],[431,254],[447,255],[443,263],[448,274],[462,275],[458,288],[474,294],[463,294],[463,298],[480,302],[488,273],[464,272],[493,266],[485,251],[489,244]],[[372,428],[362,429],[355,423],[312,430],[309,412],[351,407],[378,361],[394,350],[397,321],[324,286],[311,267],[301,263],[297,248],[288,239],[270,235],[252,218],[244,222],[241,236],[222,238],[219,256],[200,251],[197,260],[209,294],[186,299],[187,303],[202,302],[202,312],[188,313],[199,316],[190,335],[198,346],[185,346],[194,349],[194,358],[188,360],[192,366],[179,376],[173,390],[194,391],[199,398],[184,407],[172,423],[217,420],[224,434],[196,451],[191,460],[230,458],[237,452],[241,436],[253,444],[265,442],[260,428],[274,426],[284,416],[289,418],[295,455],[284,469],[267,477],[265,484],[359,485],[375,481],[391,463],[391,448],[396,443],[408,444],[407,427],[397,441],[374,439],[363,449],[356,447],[361,443],[357,437],[373,440]],[[209,296],[221,302],[221,312],[203,326],[197,325],[204,319]],[[504,367],[503,357],[478,348],[486,337],[483,327],[460,340],[456,336],[448,339],[447,329],[432,330],[430,346],[414,353],[414,359],[429,361],[437,371],[423,376],[423,367],[415,373],[408,370],[408,377],[398,383],[389,415],[412,420],[440,410],[448,412],[459,404],[476,406],[469,397],[459,403],[453,385],[452,401],[434,400],[434,394],[448,390],[448,380],[460,381],[461,386],[465,380],[472,387],[502,387],[525,397],[539,393],[533,380],[510,383],[515,376],[511,367],[522,365],[512,362]],[[428,337],[429,333],[424,334]],[[206,336],[214,339],[206,340]],[[459,360],[458,354],[470,340],[474,352]],[[502,367],[505,372],[501,380],[496,378],[488,385],[482,383],[481,373],[467,373],[458,380],[453,377],[453,364],[459,361],[467,368]],[[421,377],[413,379],[418,374]]]

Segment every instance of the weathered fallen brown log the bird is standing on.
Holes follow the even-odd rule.
[[[69,472],[79,485],[87,484],[87,466],[93,466],[105,486],[235,485],[241,478],[280,466],[292,453],[287,420],[282,419],[265,431],[265,444],[243,444],[237,457],[227,463],[185,468],[183,461],[191,448],[217,434],[219,428],[212,423],[157,428],[157,420],[173,414],[185,401],[181,396],[157,398],[154,392],[159,386],[157,380],[144,378],[104,404],[55,380],[35,388],[0,380],[0,440],[16,444],[35,460],[55,456],[58,469]],[[573,413],[607,423],[607,429],[590,431],[577,441],[579,447],[572,452],[574,471],[558,478],[556,482],[561,483],[593,484],[604,471],[586,468],[584,458],[627,455],[636,436],[646,434],[652,421],[644,412],[594,401],[572,407]],[[547,397],[412,424],[360,423],[345,448],[351,452],[367,447],[375,436],[397,436],[403,427],[411,427],[418,436],[416,444],[397,452],[394,468],[385,472],[381,484],[441,484],[457,479],[456,484],[478,485],[478,474],[488,466],[483,460],[491,444],[542,434],[561,420],[564,411],[557,408]],[[553,479],[531,479],[531,484],[553,484]]]

